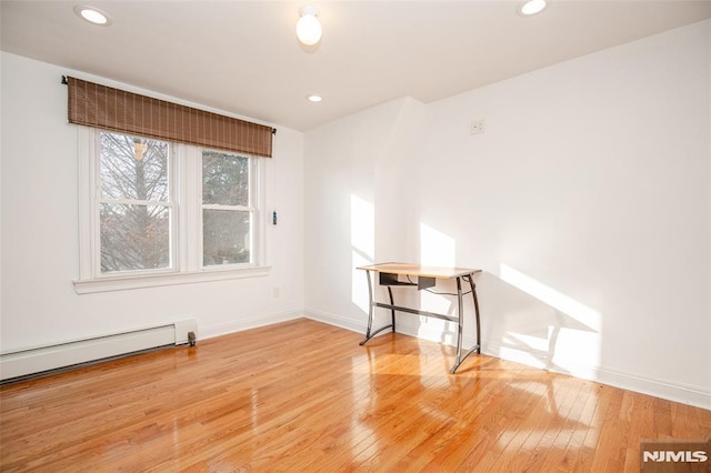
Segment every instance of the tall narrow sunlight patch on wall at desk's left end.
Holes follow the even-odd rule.
[[[356,268],[372,264],[375,253],[375,211],[373,204],[351,195],[351,301],[368,313],[368,280]]]

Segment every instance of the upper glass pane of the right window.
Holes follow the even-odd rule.
[[[249,205],[249,158],[202,152],[202,203]]]

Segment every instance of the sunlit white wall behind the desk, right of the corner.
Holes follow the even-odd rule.
[[[481,268],[484,352],[711,407],[710,30],[309,131],[308,313],[363,330],[363,261]]]

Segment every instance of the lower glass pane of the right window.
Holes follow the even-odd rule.
[[[250,212],[202,211],[202,265],[250,262]]]

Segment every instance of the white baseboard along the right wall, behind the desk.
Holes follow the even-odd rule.
[[[365,333],[365,328],[368,325],[367,316],[363,316],[362,321],[356,321],[342,315],[314,310],[304,310],[303,316],[363,334]],[[435,331],[428,333],[428,331],[422,330],[421,325],[415,325],[413,323],[413,320],[414,319],[412,319],[412,316],[409,316],[409,314],[398,314],[398,332],[410,336],[419,336],[421,339],[431,340],[434,342],[441,341],[441,336],[437,334]],[[444,340],[444,343],[449,345],[453,344],[450,340]],[[462,343],[464,348],[472,346],[474,344],[474,340],[470,336],[464,335]],[[532,365],[531,355],[534,356],[535,354],[527,353],[520,350],[512,351],[502,349],[502,346],[499,346],[494,342],[482,340],[482,353],[489,356],[501,358],[508,361]],[[502,352],[504,353],[504,355],[502,355]],[[555,370],[554,368],[542,368],[540,365],[535,368],[541,368],[551,372],[559,372],[561,374],[568,374],[575,378],[594,381],[601,384],[648,394],[654,397],[661,397],[669,401],[711,410],[711,390],[703,389],[701,386],[690,386],[663,380],[654,380],[651,378],[618,372],[602,366],[579,366],[574,372],[565,372]]]

